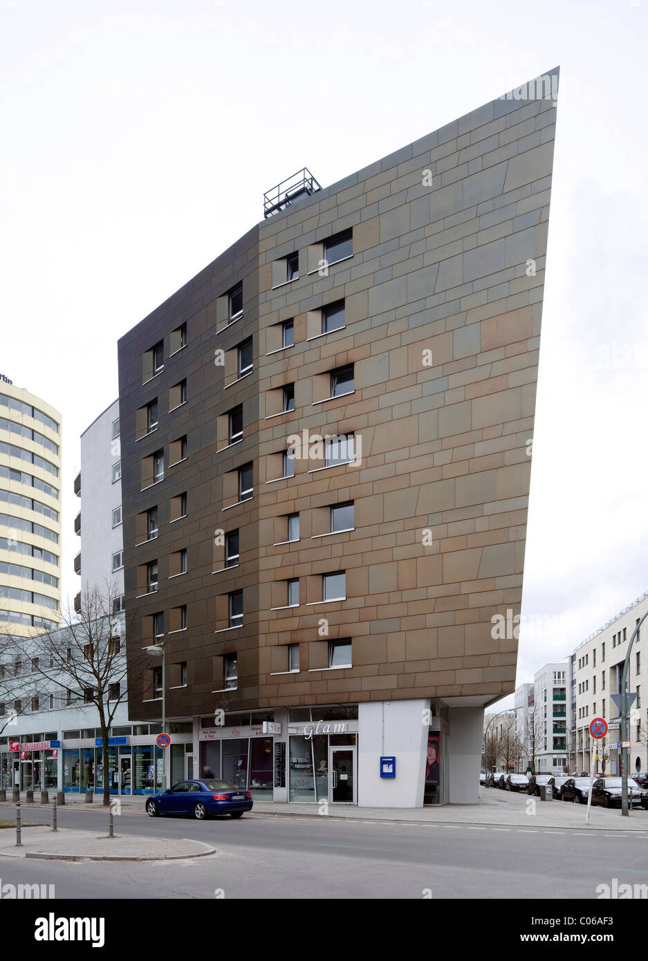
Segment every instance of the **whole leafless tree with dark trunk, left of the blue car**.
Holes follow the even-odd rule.
[[[66,706],[94,704],[97,709],[102,739],[103,803],[110,804],[108,777],[108,739],[112,719],[120,703],[128,697],[126,654],[122,650],[118,612],[119,595],[107,584],[106,589],[88,588],[81,598],[78,619],[68,611],[62,616],[62,627],[29,638],[12,638],[17,656],[27,649],[32,671],[42,686],[58,689]],[[128,634],[128,628],[125,630]],[[129,659],[129,681],[137,682],[146,670],[143,652]]]

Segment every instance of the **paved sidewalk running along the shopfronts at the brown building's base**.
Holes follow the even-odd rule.
[[[446,824],[446,825],[493,825],[553,827],[560,829],[583,829],[605,831],[641,831],[648,833],[648,811],[633,810],[624,818],[618,809],[592,807],[589,812],[589,825],[586,826],[586,805],[569,804],[565,801],[539,801],[527,795],[483,789],[483,797],[476,804],[445,804],[442,807],[357,807],[351,804],[330,804],[326,816],[358,821],[389,821],[405,824]],[[72,800],[74,799],[74,800]],[[101,811],[108,822],[108,809],[101,804],[101,797],[92,804],[84,802],[84,796],[65,795],[65,806],[59,811],[73,807],[75,811]],[[146,796],[136,799],[119,799],[122,814],[139,814],[146,817]],[[535,802],[535,803],[534,803]],[[51,819],[51,804],[25,804],[21,797],[22,817],[38,821]],[[0,802],[0,812],[15,811],[11,801]],[[291,801],[255,801],[251,814],[276,817],[318,817],[324,811],[321,804],[306,804]],[[0,816],[12,817],[12,814]],[[115,820],[115,825],[117,821]],[[4,833],[4,832],[3,832]]]

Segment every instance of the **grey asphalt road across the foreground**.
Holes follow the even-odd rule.
[[[61,827],[106,832],[104,811],[59,811]],[[327,817],[115,818],[119,834],[207,841],[217,856],[154,863],[0,858],[0,878],[81,899],[596,899],[602,883],[648,883],[645,833]]]

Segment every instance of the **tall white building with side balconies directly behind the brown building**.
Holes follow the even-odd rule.
[[[81,538],[81,550],[74,559],[74,570],[81,577],[75,608],[80,611],[82,597],[96,590],[121,609],[124,563],[118,400],[81,435],[81,470],[74,479],[74,492],[81,500],[74,519],[74,530]]]

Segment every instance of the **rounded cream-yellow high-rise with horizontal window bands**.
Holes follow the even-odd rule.
[[[0,631],[61,623],[61,414],[0,379]]]

